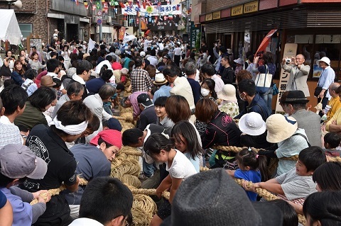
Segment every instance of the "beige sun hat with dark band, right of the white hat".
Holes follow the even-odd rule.
[[[266,140],[278,143],[291,137],[297,130],[297,122],[293,117],[285,117],[281,114],[270,115],[266,120]]]

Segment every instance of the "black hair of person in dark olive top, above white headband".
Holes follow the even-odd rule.
[[[44,109],[55,100],[55,90],[41,86],[29,98],[31,105],[35,108]]]

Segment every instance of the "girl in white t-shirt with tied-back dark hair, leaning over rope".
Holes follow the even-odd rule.
[[[163,191],[170,189],[169,200],[164,200],[158,213],[153,216],[151,226],[161,225],[163,220],[171,215],[171,203],[178,190],[181,182],[188,177],[197,174],[193,164],[187,157],[177,149],[173,149],[175,142],[173,138],[168,139],[161,133],[150,135],[146,142],[144,142],[144,150],[156,162],[166,163],[166,170],[169,175],[163,179],[161,184],[156,188],[156,195],[161,197]]]

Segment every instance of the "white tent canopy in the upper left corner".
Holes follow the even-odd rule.
[[[0,9],[0,40],[9,41],[12,45],[21,43],[21,30],[13,9]]]

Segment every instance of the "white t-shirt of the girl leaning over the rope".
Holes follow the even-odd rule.
[[[188,177],[197,174],[195,167],[192,162],[185,157],[185,154],[181,153],[177,149],[175,149],[175,151],[176,154],[171,166],[168,166],[168,163],[166,162],[166,170],[169,172],[169,176],[171,176],[172,179],[176,178],[185,180],[188,179]]]

